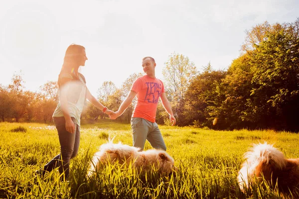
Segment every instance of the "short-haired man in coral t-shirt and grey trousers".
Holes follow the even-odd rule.
[[[163,83],[161,80],[155,78],[154,70],[156,63],[154,59],[152,57],[143,58],[142,67],[146,75],[135,80],[128,97],[122,102],[118,111],[110,115],[110,118],[116,119],[122,115],[137,95],[138,101],[131,119],[133,146],[143,150],[148,139],[153,148],[166,151],[161,132],[155,122],[159,99],[161,99],[163,107],[169,114],[172,126],[175,124],[175,118],[171,110],[171,105],[165,96]]]

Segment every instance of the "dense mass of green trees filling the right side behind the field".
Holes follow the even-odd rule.
[[[187,124],[299,131],[299,19],[247,31],[244,54],[216,81],[210,64],[186,93]],[[208,77],[208,78],[205,78]],[[214,81],[214,82],[213,82]],[[213,118],[218,122],[211,126]]]

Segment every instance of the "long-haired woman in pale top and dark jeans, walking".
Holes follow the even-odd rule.
[[[36,171],[39,175],[59,167],[62,180],[69,175],[69,162],[78,153],[80,142],[80,116],[84,102],[88,99],[94,106],[110,115],[114,113],[95,99],[86,87],[84,76],[78,72],[87,60],[85,48],[71,44],[65,53],[64,63],[58,76],[59,103],[53,113],[53,121],[58,131],[60,154]]]

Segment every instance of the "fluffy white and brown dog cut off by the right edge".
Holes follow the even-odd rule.
[[[299,188],[299,159],[286,159],[273,145],[256,144],[247,153],[247,159],[239,172],[240,189],[249,188],[249,183],[267,181],[274,187],[277,183],[282,193],[293,193]]]

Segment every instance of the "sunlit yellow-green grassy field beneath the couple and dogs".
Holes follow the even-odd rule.
[[[21,126],[23,128],[18,127]],[[26,130],[23,132],[22,130]],[[253,143],[267,141],[288,158],[299,157],[299,136],[275,131],[214,131],[192,127],[160,126],[167,152],[179,172],[165,178],[156,173],[140,176],[131,168],[105,167],[95,178],[86,173],[93,154],[107,142],[132,145],[129,124],[104,122],[81,126],[79,153],[71,160],[70,182],[59,180],[58,171],[35,177],[59,153],[54,126],[39,123],[0,123],[0,198],[280,198],[261,186],[243,194],[237,184],[243,154]],[[146,143],[146,149],[150,149]]]

